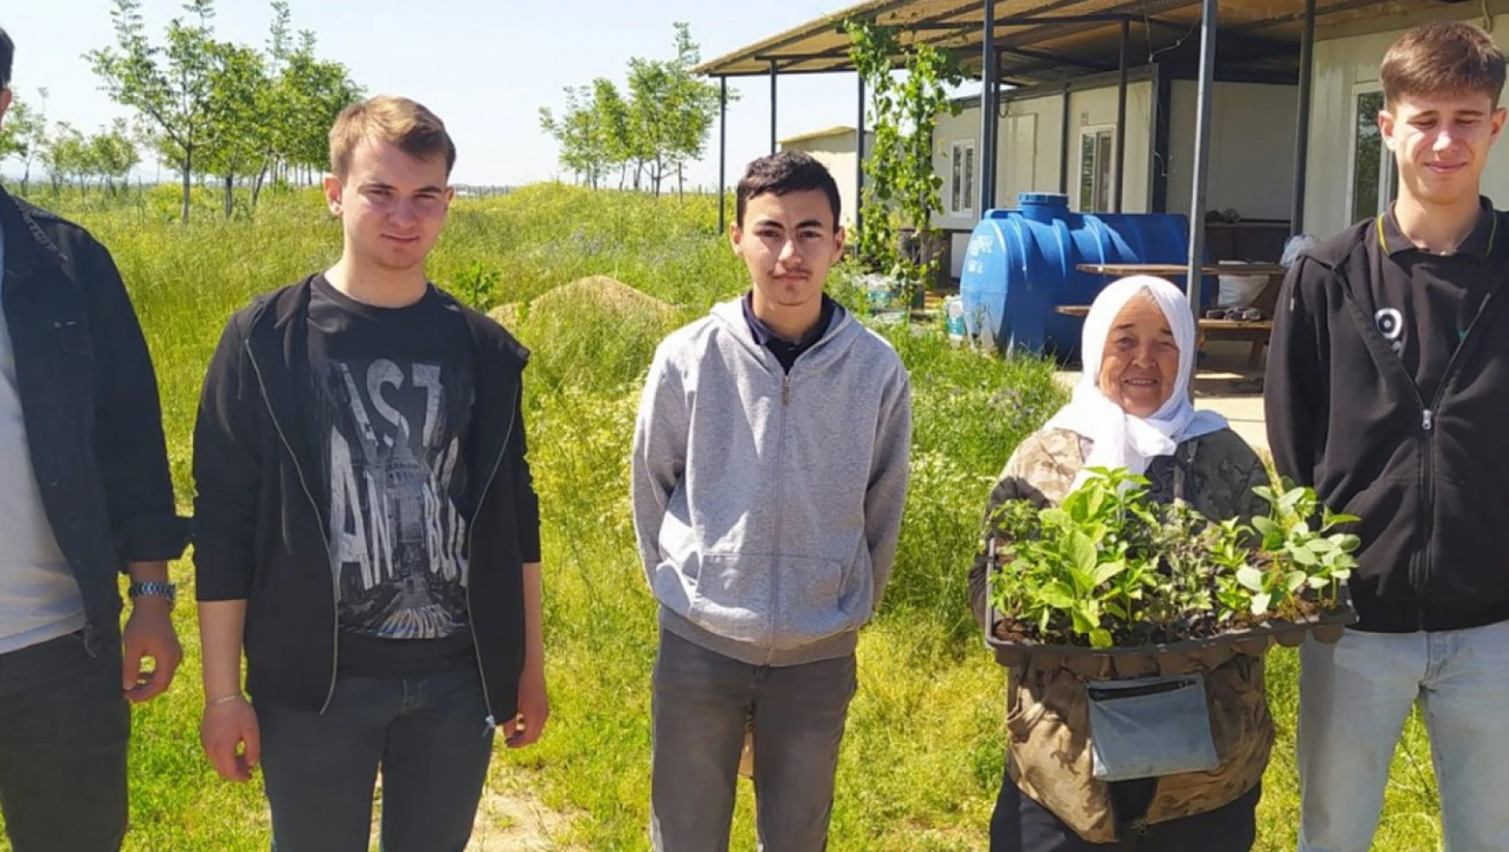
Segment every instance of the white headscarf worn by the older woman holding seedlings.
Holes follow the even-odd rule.
[[[1127,302],[1141,294],[1150,296],[1168,318],[1179,345],[1174,392],[1148,418],[1126,413],[1100,391],[1106,336]],[[1180,443],[1227,428],[1225,418],[1215,412],[1197,412],[1189,401],[1189,380],[1195,369],[1195,320],[1189,300],[1172,283],[1139,274],[1123,277],[1100,291],[1085,317],[1079,351],[1083,375],[1074,386],[1070,403],[1047,424],[1049,428],[1064,428],[1094,442],[1085,458],[1085,469],[1074,477],[1074,489],[1093,477],[1089,467],[1126,467],[1132,474],[1144,474],[1151,458],[1172,455]]]

